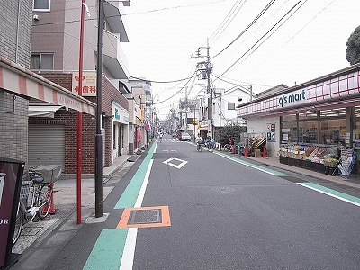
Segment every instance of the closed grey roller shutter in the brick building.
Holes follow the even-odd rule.
[[[65,128],[29,125],[29,167],[65,164]]]

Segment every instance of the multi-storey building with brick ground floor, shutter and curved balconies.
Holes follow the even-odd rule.
[[[89,0],[86,4],[90,17],[85,16],[84,22],[81,92],[86,100],[95,103],[99,3]],[[127,22],[121,16],[126,5],[129,2],[103,3],[103,166],[112,166],[113,160],[127,154],[129,149],[129,102],[124,94],[130,91],[121,83],[121,79],[129,75],[128,61],[121,49],[121,42],[129,42]],[[40,8],[34,6],[32,12],[36,19],[32,20],[31,70],[78,94],[81,3],[59,0],[50,5],[48,2]],[[31,100],[30,106],[44,104]],[[31,117],[29,126],[32,143],[29,148],[33,148],[29,151],[31,164],[56,162],[63,165],[64,173],[76,173],[76,113],[67,107],[58,108],[52,118]],[[82,172],[85,174],[94,173],[95,126],[94,117],[83,116]],[[48,137],[38,136],[45,132]]]

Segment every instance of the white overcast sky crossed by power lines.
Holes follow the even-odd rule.
[[[359,13],[359,0],[131,0],[123,15],[130,42],[122,47],[130,76],[164,82],[152,83],[152,91],[165,119],[186,87],[190,97],[204,88],[206,81],[186,78],[206,60],[195,55],[207,39],[211,86],[252,85],[259,93],[348,67],[347,39]]]

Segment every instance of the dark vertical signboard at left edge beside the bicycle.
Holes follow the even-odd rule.
[[[0,268],[10,266],[23,161],[0,157]]]

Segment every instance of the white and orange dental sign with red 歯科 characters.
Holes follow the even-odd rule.
[[[79,73],[73,72],[72,76],[72,92],[78,94],[79,86]],[[83,96],[96,96],[96,72],[84,71],[82,76],[82,95]]]

